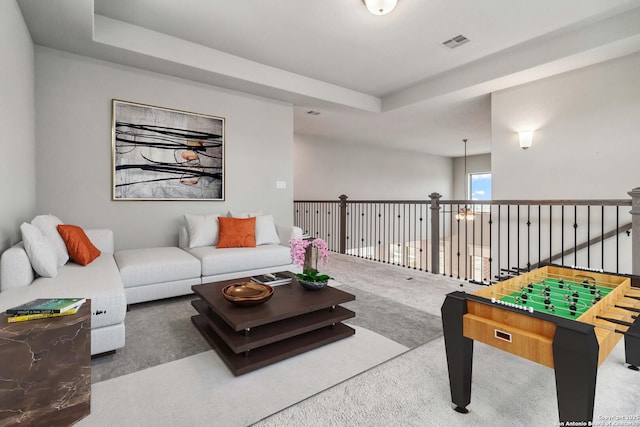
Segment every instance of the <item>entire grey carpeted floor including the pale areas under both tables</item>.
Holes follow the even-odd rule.
[[[191,325],[193,296],[137,304],[127,314],[126,347],[92,362],[92,415],[78,425],[558,425],[553,370],[481,343],[470,413],[453,411],[440,307],[447,293],[477,285],[337,254],[325,270],[356,295],[345,304],[356,312],[354,337],[236,378]],[[599,368],[594,425],[640,426],[640,374],[623,362],[621,341]],[[209,415],[181,416],[196,407]],[[118,423],[123,417],[131,423]]]

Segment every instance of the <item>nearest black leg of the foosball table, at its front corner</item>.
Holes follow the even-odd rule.
[[[593,420],[599,345],[592,325],[558,325],[553,338],[553,363],[560,422]]]

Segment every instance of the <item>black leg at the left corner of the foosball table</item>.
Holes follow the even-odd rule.
[[[457,412],[469,412],[471,402],[471,369],[473,365],[473,340],[463,336],[463,316],[467,312],[464,292],[447,295],[442,305],[442,328],[449,368],[451,401]]]

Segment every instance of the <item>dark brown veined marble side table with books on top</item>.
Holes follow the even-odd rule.
[[[7,323],[0,314],[0,425],[68,426],[91,404],[91,301],[78,313]]]

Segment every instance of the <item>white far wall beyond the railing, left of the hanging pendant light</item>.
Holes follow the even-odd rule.
[[[295,135],[295,199],[428,200],[451,197],[452,161],[406,150]]]

